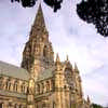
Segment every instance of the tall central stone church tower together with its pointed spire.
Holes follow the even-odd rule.
[[[54,64],[54,52],[52,43],[49,41],[49,33],[45,28],[41,4],[31,27],[29,40],[23,52],[22,67],[31,72],[33,68],[33,77],[40,71]]]

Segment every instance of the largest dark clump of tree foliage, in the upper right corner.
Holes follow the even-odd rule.
[[[108,0],[82,0],[77,4],[77,13],[81,19],[92,23],[104,37],[108,37]]]

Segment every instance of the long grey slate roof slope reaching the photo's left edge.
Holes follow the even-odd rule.
[[[1,60],[0,60],[0,75],[17,78],[22,80],[29,79],[29,73],[27,70]]]

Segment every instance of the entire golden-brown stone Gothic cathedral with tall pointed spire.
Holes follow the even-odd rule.
[[[91,108],[77,64],[54,60],[40,4],[21,67],[0,62],[0,108]]]

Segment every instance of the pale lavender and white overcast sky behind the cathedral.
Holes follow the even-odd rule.
[[[37,5],[23,9],[11,0],[0,0],[0,60],[19,66],[22,52],[29,37]],[[42,3],[45,24],[55,54],[60,59],[69,55],[77,63],[82,77],[84,96],[93,103],[108,104],[108,38],[96,32],[92,24],[81,21],[76,13],[80,0],[64,0],[62,10]]]

